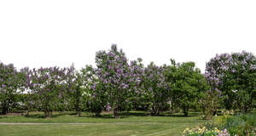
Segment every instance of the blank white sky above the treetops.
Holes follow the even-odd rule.
[[[25,66],[95,65],[112,43],[145,65],[215,54],[256,54],[256,1],[1,0],[0,60]]]

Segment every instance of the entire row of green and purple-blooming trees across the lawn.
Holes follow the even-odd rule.
[[[210,118],[219,107],[253,108],[256,93],[256,59],[253,54],[216,55],[207,63],[206,73],[194,62],[144,66],[142,59],[128,61],[122,49],[113,45],[96,53],[96,68],[86,65],[68,68],[23,68],[0,64],[0,106],[3,114],[22,105],[27,110],[90,110],[99,116],[113,110],[147,110],[152,115],[189,108],[201,109]]]

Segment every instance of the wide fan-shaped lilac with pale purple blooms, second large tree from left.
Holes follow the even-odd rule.
[[[43,110],[45,116],[52,116],[52,111],[60,105],[61,98],[68,88],[67,77],[73,73],[73,68],[39,68],[29,71],[26,76],[26,87],[32,90],[36,97],[38,110]]]

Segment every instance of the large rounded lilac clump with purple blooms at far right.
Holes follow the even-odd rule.
[[[252,108],[255,99],[256,57],[245,51],[216,55],[207,62],[207,82],[211,94],[218,94],[228,110]]]

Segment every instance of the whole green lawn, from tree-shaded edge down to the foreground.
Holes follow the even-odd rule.
[[[83,113],[83,116],[74,116],[70,112],[56,112],[51,118],[44,118],[43,113],[34,112],[31,116],[0,116],[0,122],[45,122],[53,124],[1,124],[0,136],[157,136],[182,135],[186,127],[195,127],[202,122],[200,116],[191,112],[190,116],[147,116],[144,112],[129,112],[119,119],[112,114],[103,114],[101,117]],[[65,124],[67,122],[85,124]],[[54,124],[63,123],[63,124]]]

